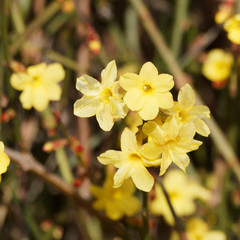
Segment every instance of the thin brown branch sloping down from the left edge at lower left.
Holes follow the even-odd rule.
[[[90,203],[82,199],[72,186],[65,183],[57,175],[48,172],[46,168],[37,162],[31,154],[20,153],[8,147],[5,147],[5,152],[8,154],[11,161],[17,163],[23,171],[34,173],[39,178],[44,180],[47,184],[53,186],[66,197],[72,199],[82,210],[87,211],[89,214],[99,218],[102,223],[108,226],[108,228],[115,232],[117,235],[123,237],[124,239],[127,239],[127,232],[119,222],[111,221],[98,211],[94,210],[91,207]]]

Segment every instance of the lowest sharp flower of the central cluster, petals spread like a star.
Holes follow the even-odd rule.
[[[114,187],[120,187],[126,179],[132,177],[138,189],[149,192],[154,179],[145,166],[159,165],[159,160],[150,161],[143,157],[135,134],[128,128],[125,128],[121,135],[121,149],[122,151],[108,150],[98,157],[100,163],[113,164],[119,168],[114,175]]]

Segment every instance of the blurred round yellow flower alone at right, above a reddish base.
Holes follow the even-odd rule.
[[[202,67],[202,74],[213,82],[226,80],[231,73],[233,56],[220,48],[211,50]]]

